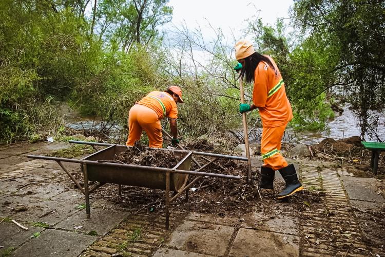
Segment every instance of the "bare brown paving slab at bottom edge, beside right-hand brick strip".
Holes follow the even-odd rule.
[[[299,256],[299,238],[254,229],[241,228],[229,256]]]

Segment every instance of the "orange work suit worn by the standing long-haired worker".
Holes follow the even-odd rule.
[[[254,72],[253,103],[258,107],[262,119],[263,166],[279,170],[287,166],[279,151],[286,125],[293,119],[293,112],[281,73],[274,60],[267,58],[275,69],[263,61],[259,62]]]

